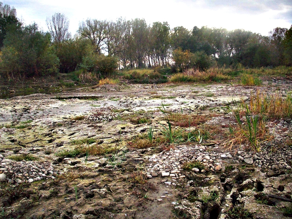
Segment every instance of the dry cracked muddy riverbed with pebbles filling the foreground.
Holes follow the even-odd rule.
[[[233,100],[285,96],[291,85],[104,85],[1,100],[0,218],[289,218],[291,121],[270,121],[273,138],[259,153],[226,142]],[[162,104],[165,113],[204,118],[182,129],[204,126],[209,139],[133,144],[150,125],[156,138],[165,131]],[[184,169],[188,161],[203,167]]]

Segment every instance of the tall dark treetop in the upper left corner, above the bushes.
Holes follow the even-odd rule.
[[[6,33],[11,26],[21,26],[21,23],[16,18],[16,9],[14,7],[11,8],[9,5],[3,5],[3,3],[0,2],[0,51]]]

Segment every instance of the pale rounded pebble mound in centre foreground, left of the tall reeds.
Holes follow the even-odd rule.
[[[147,164],[147,177],[152,178],[158,175],[162,177],[169,176],[174,183],[163,182],[165,184],[176,184],[176,179],[185,178],[182,175],[183,164],[187,161],[199,161],[205,169],[201,171],[198,168],[192,168],[194,172],[205,173],[206,169],[210,171],[220,171],[223,165],[222,159],[232,159],[230,153],[217,153],[215,151],[206,151],[206,147],[203,145],[181,145],[177,146],[175,150],[165,150],[159,154],[154,154],[149,158]]]

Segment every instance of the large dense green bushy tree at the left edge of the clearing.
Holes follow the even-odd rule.
[[[51,36],[34,23],[6,34],[0,56],[0,71],[8,77],[34,77],[55,74],[59,60],[54,54]]]

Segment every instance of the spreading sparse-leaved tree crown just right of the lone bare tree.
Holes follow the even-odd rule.
[[[85,39],[89,39],[95,46],[95,51],[101,54],[105,48],[106,29],[109,25],[107,20],[87,19],[79,24],[77,33]]]

